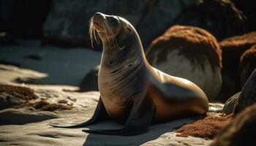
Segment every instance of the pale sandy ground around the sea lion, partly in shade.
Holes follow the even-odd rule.
[[[39,55],[41,60],[24,58],[31,54]],[[87,134],[82,131],[85,128],[122,127],[113,121],[72,129],[48,126],[50,122],[73,122],[91,118],[99,99],[99,92],[67,91],[78,89],[86,72],[99,64],[100,55],[99,52],[84,48],[67,50],[58,47],[40,47],[37,43],[35,45],[30,43],[27,47],[1,46],[0,61],[4,59],[6,62],[18,64],[19,67],[0,64],[0,84],[31,88],[39,97],[39,99],[34,99],[34,102],[43,99],[51,104],[70,105],[72,109],[54,110],[53,112],[35,110],[33,107],[29,107],[32,108],[30,110],[26,107],[18,110],[7,109],[7,112],[1,110],[0,120],[6,118],[6,115],[1,116],[1,112],[4,111],[9,114],[9,117],[14,113],[20,113],[18,114],[20,118],[15,119],[17,121],[22,118],[29,119],[29,121],[1,125],[0,145],[208,145],[211,142],[211,140],[198,137],[176,137],[176,129],[194,122],[195,118],[173,120],[151,126],[146,134],[134,137]],[[21,80],[17,80],[18,78]],[[34,82],[20,82],[28,78]],[[222,106],[212,104],[211,112],[221,111]],[[29,118],[29,115],[41,116],[41,118],[33,120]]]

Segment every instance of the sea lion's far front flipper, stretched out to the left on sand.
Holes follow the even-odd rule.
[[[102,102],[101,97],[99,97],[96,110],[91,119],[80,122],[80,123],[49,123],[49,125],[53,127],[59,127],[59,128],[79,128],[82,126],[89,126],[94,123],[99,123],[101,121],[108,120],[108,119],[110,119],[109,115],[105,110],[105,106]]]

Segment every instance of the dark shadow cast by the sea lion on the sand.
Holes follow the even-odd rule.
[[[176,131],[177,128],[183,126],[187,123],[192,123],[195,121],[195,118],[184,118],[180,120],[173,120],[167,123],[161,123],[157,125],[153,125],[148,129],[146,134],[140,134],[138,136],[131,136],[131,137],[121,137],[121,136],[111,136],[111,135],[100,135],[100,134],[89,134],[86,137],[86,141],[83,145],[142,145],[148,141],[157,139],[162,134],[166,134],[167,132]],[[102,123],[103,124],[103,123]],[[99,127],[98,124],[97,127]],[[112,128],[121,128],[122,126],[117,124],[110,124]],[[104,125],[103,127],[108,127],[108,125]],[[102,126],[100,126],[102,129]],[[92,128],[92,126],[90,126]],[[93,128],[94,129],[94,128]],[[95,126],[96,129],[96,126]]]

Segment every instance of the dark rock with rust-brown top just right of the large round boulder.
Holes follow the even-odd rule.
[[[222,48],[222,90],[219,100],[226,101],[228,97],[241,91],[238,64],[241,55],[256,44],[256,31],[241,36],[230,37],[219,45]]]

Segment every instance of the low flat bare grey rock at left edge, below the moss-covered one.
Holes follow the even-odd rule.
[[[26,123],[36,123],[42,120],[59,118],[53,112],[42,112],[34,108],[26,107],[22,109],[6,109],[0,111],[0,125],[23,125]]]

